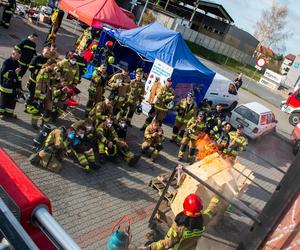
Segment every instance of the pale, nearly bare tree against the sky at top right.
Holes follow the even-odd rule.
[[[272,7],[262,11],[261,19],[256,23],[254,36],[260,43],[276,52],[286,50],[285,41],[293,34],[286,31],[288,7],[273,0]]]

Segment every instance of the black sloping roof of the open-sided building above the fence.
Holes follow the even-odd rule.
[[[195,2],[195,1],[180,0],[179,2],[183,2],[184,4],[193,6],[193,2]],[[172,5],[176,5],[176,4],[174,2],[172,2]],[[178,5],[178,6],[183,7],[182,5]],[[183,7],[183,8],[186,8],[186,7]],[[224,18],[231,23],[234,22],[232,17],[228,14],[228,12],[224,9],[223,5],[221,5],[221,4],[208,2],[208,1],[199,1],[198,9],[203,10],[207,13],[211,13],[215,16]]]

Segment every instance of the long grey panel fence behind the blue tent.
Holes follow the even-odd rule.
[[[218,41],[214,38],[206,36],[202,33],[194,31],[190,28],[187,28],[183,25],[176,24],[174,30],[181,33],[185,40],[194,42],[206,49],[212,50],[218,54],[228,56],[232,59],[235,59],[238,62],[245,63],[248,65],[255,65],[255,57],[248,55],[247,53],[238,50],[224,42]]]

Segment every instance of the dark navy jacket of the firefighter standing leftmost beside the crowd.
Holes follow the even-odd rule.
[[[1,68],[0,91],[6,94],[15,94],[16,89],[22,89],[16,69],[19,63],[12,58],[6,59]]]

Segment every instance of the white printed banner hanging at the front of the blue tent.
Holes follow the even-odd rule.
[[[159,77],[160,83],[164,85],[165,80],[172,76],[173,70],[174,68],[172,68],[170,65],[158,59],[155,59],[145,84],[145,101],[143,102],[143,111],[145,113],[148,113],[148,111],[150,110],[150,104],[147,101],[150,97],[151,88],[153,86],[153,83],[155,82],[155,79]]]

